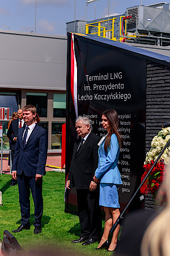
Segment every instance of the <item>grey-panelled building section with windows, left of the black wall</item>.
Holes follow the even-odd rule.
[[[0,31],[0,105],[13,112],[33,104],[48,130],[49,152],[61,152],[66,120],[67,37]],[[3,150],[9,149],[7,121]]]

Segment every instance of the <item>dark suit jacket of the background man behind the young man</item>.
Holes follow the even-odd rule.
[[[19,127],[19,119],[12,120],[10,123],[10,127],[7,131],[7,137],[11,140],[11,150],[15,151],[16,141],[13,141],[14,137],[17,137],[18,128]]]

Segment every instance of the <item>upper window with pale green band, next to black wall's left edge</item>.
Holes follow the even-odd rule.
[[[66,117],[66,94],[54,93],[53,117]]]

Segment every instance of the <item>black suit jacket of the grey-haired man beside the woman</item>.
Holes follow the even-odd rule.
[[[76,154],[80,139],[76,140],[74,144],[68,180],[70,180],[70,188],[75,186],[76,188],[88,189],[98,166],[97,143],[100,141],[100,137],[91,131]]]

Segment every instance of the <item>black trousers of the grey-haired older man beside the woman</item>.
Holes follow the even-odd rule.
[[[100,239],[101,207],[99,207],[99,188],[90,192],[89,189],[76,189],[80,237]]]

